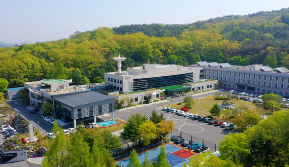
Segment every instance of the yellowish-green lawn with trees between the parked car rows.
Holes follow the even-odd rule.
[[[198,115],[209,115],[209,109],[212,108],[212,106],[217,103],[222,103],[223,100],[215,100],[214,96],[207,96],[201,99],[195,99],[194,100],[195,105],[192,106],[192,109],[189,110],[189,113],[194,113],[194,114],[198,114]],[[249,109],[254,110],[254,109],[263,109],[263,105],[262,104],[255,104],[252,102],[247,102],[247,101],[243,101],[241,99],[231,99],[230,101],[227,102],[233,102],[234,105],[237,106],[246,106],[249,107]],[[177,110],[180,110],[180,108],[182,108],[183,106],[185,106],[185,103],[181,103],[181,105],[176,104],[172,104],[172,105],[167,105],[166,107],[172,107],[175,108]]]

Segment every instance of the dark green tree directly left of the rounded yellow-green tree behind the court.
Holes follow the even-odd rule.
[[[133,142],[133,146],[140,139],[139,127],[147,120],[147,117],[142,116],[140,113],[130,116],[126,124],[123,126],[123,131],[120,133],[121,137]]]

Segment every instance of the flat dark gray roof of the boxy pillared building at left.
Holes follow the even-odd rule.
[[[101,102],[106,99],[111,99],[113,97],[109,97],[107,95],[103,95],[100,93],[96,93],[94,91],[84,91],[82,93],[71,94],[63,97],[55,98],[57,101],[66,104],[70,107],[77,107],[88,105],[96,102]]]

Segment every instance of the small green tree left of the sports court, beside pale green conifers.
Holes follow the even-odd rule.
[[[104,130],[101,133],[101,136],[103,137],[104,147],[108,149],[109,151],[113,151],[120,148],[121,143],[117,136],[112,135],[112,133],[109,130]]]

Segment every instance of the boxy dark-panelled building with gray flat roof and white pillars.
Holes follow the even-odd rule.
[[[57,119],[63,122],[74,121],[74,127],[76,119],[94,117],[96,123],[96,117],[106,113],[112,113],[114,119],[114,98],[94,91],[57,97],[54,102]]]

